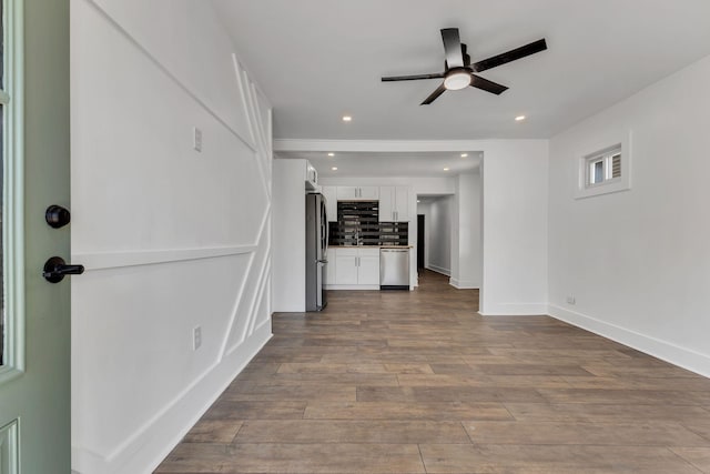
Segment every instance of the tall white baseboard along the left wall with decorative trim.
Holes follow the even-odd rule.
[[[226,355],[110,458],[82,446],[72,446],[73,470],[82,474],[153,472],[271,337],[270,323],[254,330],[239,351]]]

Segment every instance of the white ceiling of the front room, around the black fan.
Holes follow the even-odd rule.
[[[213,2],[274,105],[275,138],[549,138],[710,54],[708,0]],[[381,82],[440,71],[446,27],[473,61],[539,38],[549,49],[481,73],[510,87],[500,97],[467,88],[420,107],[437,80]]]

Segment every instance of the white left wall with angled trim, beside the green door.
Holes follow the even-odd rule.
[[[151,472],[271,336],[271,110],[233,50],[206,2],[71,2],[77,472]]]

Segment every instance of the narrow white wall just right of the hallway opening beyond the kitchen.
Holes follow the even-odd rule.
[[[452,285],[479,289],[481,282],[480,173],[456,177],[452,229]]]

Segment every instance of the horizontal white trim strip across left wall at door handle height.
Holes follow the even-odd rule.
[[[81,262],[87,271],[184,262],[253,253],[257,245],[234,245],[207,249],[138,250],[128,252],[73,253],[72,261]]]

